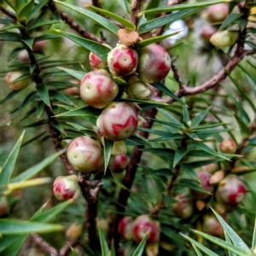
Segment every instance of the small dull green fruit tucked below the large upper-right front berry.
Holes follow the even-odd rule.
[[[125,86],[125,93],[138,100],[149,100],[151,97],[150,88],[141,81],[135,81]]]

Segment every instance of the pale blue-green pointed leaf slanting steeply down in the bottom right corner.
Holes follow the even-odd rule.
[[[246,254],[244,255],[252,255],[251,250],[247,247],[246,243],[242,241],[240,236],[236,234],[234,230],[232,230],[227,224],[224,219],[218,214],[218,212],[215,212],[212,209],[212,212],[215,214],[216,218],[218,218],[218,221],[223,226],[224,230],[226,231],[227,235],[230,236],[231,241],[235,244],[236,247],[240,247]]]

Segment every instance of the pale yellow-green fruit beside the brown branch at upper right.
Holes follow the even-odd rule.
[[[236,32],[221,31],[216,32],[210,38],[211,44],[216,47],[228,47],[236,43],[238,34]]]

